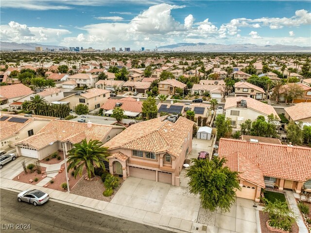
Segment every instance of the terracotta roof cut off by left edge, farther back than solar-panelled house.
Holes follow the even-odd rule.
[[[25,95],[30,95],[34,93],[29,87],[24,84],[18,83],[14,85],[0,86],[0,96],[1,98],[12,99],[17,97],[22,97]]]

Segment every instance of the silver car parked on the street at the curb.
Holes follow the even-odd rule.
[[[25,201],[33,205],[42,205],[50,199],[49,194],[37,189],[26,190],[17,195],[19,202]]]

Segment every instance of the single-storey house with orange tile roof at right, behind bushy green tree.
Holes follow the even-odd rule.
[[[262,188],[311,192],[311,148],[221,138],[218,154],[232,171],[238,171],[237,197],[259,202]]]

